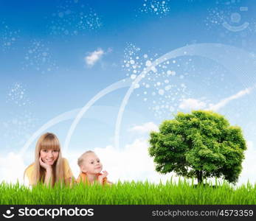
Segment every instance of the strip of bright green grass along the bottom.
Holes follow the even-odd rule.
[[[72,188],[0,183],[2,204],[256,204],[256,183],[233,187],[228,183],[194,186],[185,181],[166,184],[124,182],[112,186],[76,185]]]

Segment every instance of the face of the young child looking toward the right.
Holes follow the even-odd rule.
[[[103,164],[100,163],[100,159],[93,152],[88,153],[80,166],[82,172],[89,174],[97,174],[103,169]]]

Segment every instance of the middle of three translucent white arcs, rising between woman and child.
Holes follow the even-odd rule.
[[[77,124],[80,122],[80,119],[82,118],[84,113],[86,113],[86,111],[91,107],[91,105],[93,105],[94,102],[97,102],[98,99],[105,96],[105,94],[110,93],[111,91],[115,91],[118,88],[125,88],[125,87],[130,86],[131,82],[132,82],[131,78],[128,77],[128,78],[118,81],[117,83],[109,85],[107,88],[103,89],[98,94],[96,94],[92,99],[90,99],[89,102],[87,102],[85,106],[83,106],[83,108],[80,110],[80,112],[75,117],[75,120],[72,122],[71,127],[69,127],[69,132],[66,136],[65,144],[63,147],[64,154],[69,148],[69,143],[70,143],[72,134],[74,133],[75,127],[77,127]]]

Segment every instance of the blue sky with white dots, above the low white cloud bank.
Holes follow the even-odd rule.
[[[255,152],[255,11],[249,0],[1,1],[0,155],[18,153],[42,125],[73,111],[45,130],[64,146],[75,116],[97,93],[125,78],[135,81],[154,60],[193,45],[195,55],[152,66],[139,82],[122,115],[119,148],[136,138],[146,141],[145,127],[178,111],[219,104],[214,110],[242,127]],[[201,49],[201,43],[210,45]],[[222,45],[218,56],[216,43]],[[232,60],[240,60],[241,69]],[[105,94],[89,108],[69,150],[115,146],[128,88]]]

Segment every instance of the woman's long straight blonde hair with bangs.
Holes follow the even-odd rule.
[[[35,162],[34,162],[34,171],[33,171],[33,184],[36,185],[40,181],[44,182],[45,178],[45,169],[40,166],[39,158],[40,158],[40,150],[58,150],[59,155],[58,159],[55,161],[55,164],[52,166],[52,186],[56,182],[64,182],[64,172],[63,172],[63,158],[60,150],[60,141],[57,136],[53,133],[44,133],[39,139],[35,146]],[[31,166],[31,165],[30,165]],[[29,166],[29,167],[30,167]],[[27,169],[25,170],[26,173]]]

